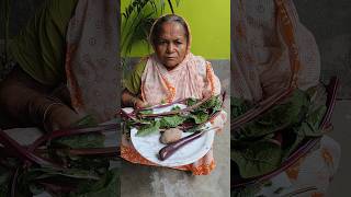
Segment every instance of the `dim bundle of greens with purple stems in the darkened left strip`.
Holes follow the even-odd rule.
[[[118,148],[105,147],[117,126],[58,130],[27,147],[0,130],[0,197],[120,196]]]

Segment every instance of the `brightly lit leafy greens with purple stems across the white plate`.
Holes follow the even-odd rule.
[[[203,100],[186,99],[181,101],[186,105],[181,109],[174,105],[170,112],[152,114],[152,108],[136,112],[136,117],[125,119],[125,131],[135,127],[137,136],[148,136],[169,128],[180,128],[190,132],[199,130],[222,109],[222,96],[211,96]],[[169,105],[173,105],[172,103]]]

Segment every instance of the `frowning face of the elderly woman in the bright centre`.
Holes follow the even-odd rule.
[[[166,22],[155,43],[156,55],[168,70],[185,58],[188,39],[184,27],[177,22]]]

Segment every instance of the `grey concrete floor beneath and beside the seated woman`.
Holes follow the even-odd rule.
[[[229,101],[225,104],[229,114]],[[229,121],[214,141],[216,169],[206,176],[166,167],[122,163],[122,197],[229,197],[230,131]]]

